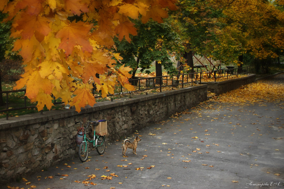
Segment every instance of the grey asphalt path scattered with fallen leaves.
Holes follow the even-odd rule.
[[[283,74],[270,80],[282,84]],[[74,154],[25,177],[27,181],[0,188],[284,188],[280,98],[241,106],[209,100],[112,141],[101,156],[91,151],[85,163]],[[123,140],[133,141],[136,136],[142,139],[137,155],[128,149],[123,156]]]

